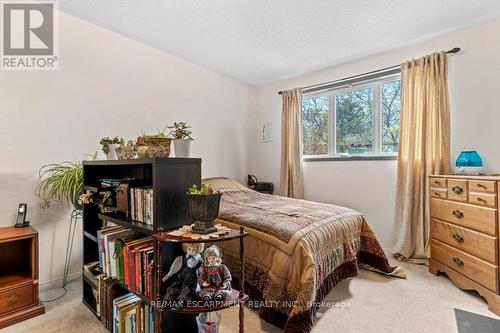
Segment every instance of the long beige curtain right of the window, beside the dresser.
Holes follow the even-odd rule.
[[[450,165],[446,52],[402,64],[401,84],[394,254],[425,262],[430,234],[426,176],[448,173]]]

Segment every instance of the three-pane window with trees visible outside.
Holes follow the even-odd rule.
[[[305,91],[304,159],[397,158],[400,98],[399,72]]]

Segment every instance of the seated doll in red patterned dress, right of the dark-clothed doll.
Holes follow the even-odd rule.
[[[215,245],[210,246],[203,254],[198,283],[202,287],[199,297],[206,302],[220,302],[231,294],[231,272],[222,264],[220,249]]]

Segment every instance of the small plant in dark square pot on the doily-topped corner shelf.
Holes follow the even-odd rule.
[[[210,234],[217,231],[214,220],[219,215],[221,193],[214,193],[211,186],[193,185],[188,190],[188,203],[194,220],[193,233]]]

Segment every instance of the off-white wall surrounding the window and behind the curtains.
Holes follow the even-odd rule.
[[[500,21],[394,48],[339,66],[261,86],[257,91],[249,171],[279,183],[281,98],[279,90],[317,84],[385,68],[455,46],[450,57],[451,140],[454,161],[463,146],[475,147],[489,171],[500,171],[498,109],[500,92]],[[258,126],[271,122],[274,141],[260,143]],[[349,206],[364,213],[383,246],[392,246],[396,161],[307,162],[306,199]]]

